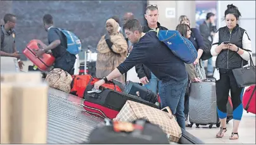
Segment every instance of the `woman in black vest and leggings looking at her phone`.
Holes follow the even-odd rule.
[[[216,78],[217,111],[221,120],[221,130],[216,137],[221,138],[227,131],[227,99],[229,91],[233,104],[233,131],[229,139],[238,139],[238,127],[243,115],[243,87],[238,87],[232,70],[247,65],[252,55],[252,44],[246,30],[238,25],[240,11],[233,4],[227,5],[224,13],[226,26],[214,35],[211,53],[217,56],[214,77]],[[226,43],[226,41],[228,43]],[[225,44],[224,44],[225,42]],[[243,62],[243,63],[242,63]],[[219,72],[219,73],[218,73]],[[218,76],[217,76],[218,75]]]

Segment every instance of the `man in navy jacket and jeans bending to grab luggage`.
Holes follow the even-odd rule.
[[[134,65],[144,64],[158,79],[162,80],[159,95],[162,108],[169,106],[176,115],[179,126],[185,129],[184,94],[188,83],[188,74],[184,62],[177,58],[169,47],[160,42],[157,32],[142,32],[138,20],[128,20],[124,24],[125,34],[134,44],[134,49],[108,76],[94,84],[96,89],[106,81],[115,79],[130,70]]]

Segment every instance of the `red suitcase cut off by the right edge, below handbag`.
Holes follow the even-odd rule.
[[[247,113],[256,113],[255,94],[255,85],[252,85],[246,89],[245,94],[243,95],[243,108],[247,111]]]

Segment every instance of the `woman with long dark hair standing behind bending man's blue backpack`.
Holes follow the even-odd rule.
[[[183,20],[184,18],[186,18],[186,16],[181,16],[180,17],[181,20]],[[179,31],[179,33],[183,37],[185,37],[187,39],[191,38],[191,28],[186,23],[181,23],[181,24],[177,25],[176,30]],[[185,96],[184,96],[184,114],[185,114],[185,124],[186,124],[186,127],[187,127],[188,126],[188,113],[189,113],[189,86],[190,86],[190,82],[191,81],[192,82],[201,82],[201,80],[199,79],[198,71],[196,72],[195,66],[193,64],[186,64],[185,63],[185,66],[186,66],[186,72],[188,72],[188,76],[189,76],[188,77],[188,85],[186,87],[186,93],[185,93]]]

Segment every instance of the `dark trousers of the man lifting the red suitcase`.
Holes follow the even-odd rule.
[[[60,68],[68,72],[70,75],[74,75],[75,55],[65,53],[63,56],[56,58],[54,62],[54,68]]]

